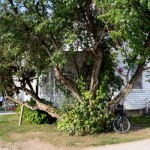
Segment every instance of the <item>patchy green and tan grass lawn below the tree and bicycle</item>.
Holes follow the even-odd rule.
[[[86,147],[113,143],[122,143],[150,138],[150,118],[130,118],[131,130],[126,134],[115,132],[87,136],[69,136],[56,130],[54,125],[31,125],[24,123],[18,126],[17,115],[0,116],[0,140],[18,142],[39,138],[55,146]],[[59,142],[58,142],[59,141]]]

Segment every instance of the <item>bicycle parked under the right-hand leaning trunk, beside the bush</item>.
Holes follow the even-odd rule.
[[[126,133],[130,129],[130,122],[125,117],[123,104],[118,105],[115,110],[115,119],[113,120],[113,130],[118,133]]]

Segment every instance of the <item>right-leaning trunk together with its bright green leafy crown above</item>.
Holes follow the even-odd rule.
[[[109,35],[116,43],[114,48],[124,58],[127,74],[126,85],[111,102],[111,109],[124,100],[132,91],[134,84],[149,69],[150,60],[150,3],[148,1],[106,0],[103,3],[103,18],[107,21]],[[109,11],[108,11],[109,10]],[[126,48],[123,45],[126,44]],[[129,78],[133,66],[137,66],[135,74]]]

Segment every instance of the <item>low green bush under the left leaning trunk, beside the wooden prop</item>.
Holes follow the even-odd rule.
[[[17,112],[20,113],[20,106],[17,108]],[[48,113],[41,110],[31,110],[24,107],[23,120],[32,124],[52,124],[56,121]]]

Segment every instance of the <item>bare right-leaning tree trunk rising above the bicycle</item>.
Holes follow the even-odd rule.
[[[110,102],[110,110],[112,112],[114,112],[117,105],[123,102],[126,96],[132,91],[134,84],[136,83],[138,78],[142,75],[144,66],[145,66],[145,63],[138,65],[138,68],[135,74],[132,76],[131,80],[129,81],[129,84],[126,85],[123,88],[123,90],[115,98],[112,99],[112,101]]]

